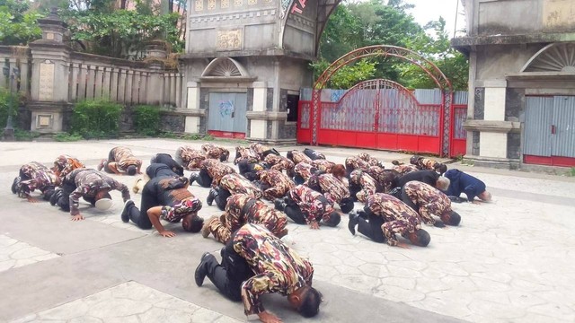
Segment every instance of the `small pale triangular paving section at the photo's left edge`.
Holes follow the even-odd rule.
[[[0,272],[57,257],[55,253],[0,234]]]

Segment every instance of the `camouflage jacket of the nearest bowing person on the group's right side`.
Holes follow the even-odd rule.
[[[371,212],[384,218],[381,229],[390,246],[397,245],[395,233],[406,235],[421,229],[417,212],[394,196],[377,193],[367,197],[366,205]]]

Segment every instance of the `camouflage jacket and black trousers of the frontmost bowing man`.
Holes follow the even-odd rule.
[[[262,294],[288,295],[311,286],[314,276],[314,267],[307,259],[257,224],[245,224],[234,233],[222,250],[221,266],[215,257],[206,258],[205,271],[227,298],[243,301],[245,315],[265,310]]]

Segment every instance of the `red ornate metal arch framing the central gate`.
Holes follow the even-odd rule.
[[[369,46],[365,48],[358,48],[349,52],[348,54],[338,58],[335,62],[332,63],[324,72],[323,74],[317,79],[314,83],[314,89],[312,92],[312,100],[311,100],[311,144],[319,144],[318,135],[320,132],[320,126],[322,123],[322,90],[325,84],[330,80],[333,74],[335,74],[341,67],[345,65],[349,65],[349,63],[357,61],[358,59],[364,57],[398,57],[404,59],[411,64],[419,66],[429,77],[433,80],[434,83],[438,85],[438,88],[441,92],[441,103],[440,103],[440,110],[439,110],[439,144],[437,149],[434,149],[432,152],[429,153],[438,153],[439,155],[447,155],[449,154],[449,130],[450,130],[450,112],[452,109],[451,101],[453,95],[453,88],[451,83],[447,79],[446,75],[439,70],[437,65],[434,65],[425,57],[421,57],[420,54],[407,49],[407,48],[400,48],[396,46],[387,46],[387,45],[375,45]],[[373,80],[372,80],[373,81]],[[384,80],[382,80],[384,81]],[[394,85],[394,88],[403,88],[401,84],[397,83],[389,83],[390,81],[385,80],[386,84]],[[380,83],[380,81],[378,81]],[[361,84],[361,83],[360,83]],[[380,83],[381,84],[381,83]],[[360,85],[360,86],[365,86]],[[399,85],[399,87],[397,86]],[[359,84],[358,84],[359,86]],[[353,89],[353,88],[352,88]],[[350,91],[351,92],[351,91]],[[374,123],[374,125],[378,125],[379,123]],[[376,127],[376,126],[375,126]],[[372,129],[373,132],[377,131],[377,128]]]

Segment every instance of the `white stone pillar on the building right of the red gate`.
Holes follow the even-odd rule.
[[[505,121],[505,92],[507,81],[487,80],[485,85],[485,121]],[[482,157],[507,158],[507,133],[482,131],[479,155]]]

